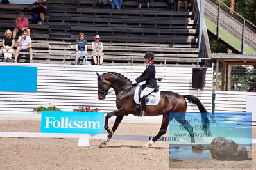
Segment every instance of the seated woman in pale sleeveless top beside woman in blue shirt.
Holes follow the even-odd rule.
[[[94,64],[97,65],[102,65],[103,63],[103,43],[99,41],[100,37],[99,35],[94,36],[94,42],[92,42],[92,59],[94,61]],[[98,56],[98,62],[97,62],[97,58],[96,56]],[[100,58],[100,59],[99,59]]]

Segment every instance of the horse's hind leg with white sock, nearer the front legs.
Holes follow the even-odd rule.
[[[153,137],[151,141],[148,141],[148,143],[145,144],[144,148],[148,148],[148,146],[151,146],[153,143],[155,143],[155,141],[157,141],[159,137],[166,134],[168,125],[169,125],[169,114],[163,114],[162,125],[158,134],[155,137]]]

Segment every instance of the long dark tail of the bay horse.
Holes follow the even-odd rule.
[[[208,112],[205,109],[205,107],[203,107],[203,104],[201,104],[200,100],[193,96],[193,95],[184,95],[183,98],[187,98],[187,100],[189,100],[189,102],[192,102],[193,104],[196,104],[198,106],[198,109],[201,113],[201,118],[202,118],[202,122],[203,122],[203,130],[205,131],[205,133],[209,132],[209,119],[208,119]]]

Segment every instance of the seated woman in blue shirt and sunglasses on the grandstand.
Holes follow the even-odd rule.
[[[76,38],[76,59],[74,60],[74,64],[80,64],[80,54],[85,54],[83,57],[83,65],[86,65],[86,61],[88,58],[87,54],[87,40],[85,40],[85,34],[80,33],[78,38]]]

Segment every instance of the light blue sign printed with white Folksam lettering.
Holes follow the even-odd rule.
[[[104,113],[42,111],[41,132],[104,134]]]

